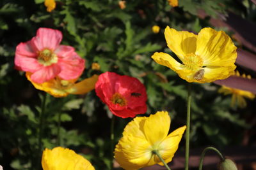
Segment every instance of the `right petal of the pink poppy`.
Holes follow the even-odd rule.
[[[61,68],[60,78],[64,80],[76,79],[84,71],[85,60],[79,57],[76,52],[65,58],[58,58],[58,66]]]

